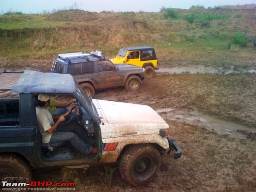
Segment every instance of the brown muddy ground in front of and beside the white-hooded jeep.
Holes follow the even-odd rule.
[[[182,158],[174,160],[173,153],[165,154],[158,177],[138,187],[124,182],[116,165],[92,167],[86,172],[42,169],[34,171],[33,178],[75,182],[77,192],[255,191],[256,134],[248,130],[237,131],[244,138],[218,134],[201,126],[200,118],[198,124],[191,125],[178,114],[178,111],[189,114],[196,110],[253,130],[255,84],[255,74],[157,74],[144,80],[142,88],[135,92],[126,92],[124,88],[98,91],[94,98],[146,104],[157,110],[182,148]]]

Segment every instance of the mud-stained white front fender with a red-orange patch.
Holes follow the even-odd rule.
[[[102,139],[103,153],[101,163],[114,163],[125,146],[134,144],[157,144],[163,149],[169,148],[168,140],[158,134],[124,136]]]

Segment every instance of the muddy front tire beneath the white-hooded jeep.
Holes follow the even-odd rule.
[[[119,171],[126,182],[138,186],[156,177],[161,161],[161,155],[154,146],[136,145],[122,156]]]

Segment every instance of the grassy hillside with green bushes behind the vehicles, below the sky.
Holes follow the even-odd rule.
[[[10,12],[0,15],[0,55],[6,60],[0,67],[10,59],[52,59],[60,52],[97,49],[114,57],[122,46],[140,45],[154,46],[160,65],[198,65],[201,60],[203,65],[241,65],[238,52],[246,58],[255,54],[255,15],[254,8],[219,6],[137,13],[78,8],[45,14]]]

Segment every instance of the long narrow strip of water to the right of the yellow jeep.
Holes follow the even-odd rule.
[[[234,66],[229,66],[227,68],[212,68],[205,66],[191,66],[191,67],[170,67],[170,68],[160,68],[156,73],[168,73],[168,74],[244,74],[244,73],[256,73],[254,68],[242,69],[234,68]]]

